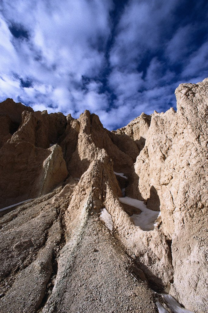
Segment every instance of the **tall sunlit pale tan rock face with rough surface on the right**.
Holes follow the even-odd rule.
[[[176,97],[177,112],[170,109],[152,116],[145,146],[134,168],[142,197],[149,198],[152,206],[154,198],[159,198],[162,229],[172,239],[171,292],[188,308],[200,312],[204,303],[207,305],[203,293],[208,292],[204,289],[206,274],[197,275],[208,270],[208,80],[196,85],[181,84]],[[155,209],[156,206],[157,201]],[[199,299],[201,284],[204,291]]]

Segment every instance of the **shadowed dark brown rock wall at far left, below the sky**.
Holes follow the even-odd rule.
[[[22,104],[15,108],[13,100],[2,102],[1,112],[7,104],[0,135],[0,208],[49,192],[68,175],[60,146],[49,148],[65,131],[65,116],[33,112]],[[19,125],[13,134],[11,121]]]

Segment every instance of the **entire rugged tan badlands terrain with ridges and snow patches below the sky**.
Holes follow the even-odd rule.
[[[208,79],[177,112],[0,104],[0,312],[208,312]]]

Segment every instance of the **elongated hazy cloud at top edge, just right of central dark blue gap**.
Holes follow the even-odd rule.
[[[178,1],[129,1],[119,21],[115,44],[111,49],[113,66],[137,67],[138,62],[162,44],[164,30],[171,27],[172,9]]]

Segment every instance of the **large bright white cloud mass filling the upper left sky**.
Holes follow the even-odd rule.
[[[82,75],[94,77],[104,66],[104,53],[98,51],[96,41],[101,37],[107,41],[111,7],[111,1],[98,0],[3,1],[0,74],[7,82],[1,80],[1,100],[6,95],[14,100],[19,96],[25,103],[37,106],[40,101],[72,114],[82,110],[84,102],[96,109],[96,103],[106,96],[91,86],[88,92],[80,86]],[[10,33],[9,26],[20,21],[30,34],[29,40]],[[29,78],[32,86],[20,88],[20,78]]]

